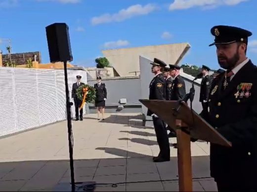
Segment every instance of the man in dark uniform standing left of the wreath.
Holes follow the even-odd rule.
[[[72,85],[71,97],[74,99],[75,112],[76,112],[76,121],[79,121],[79,108],[80,108],[80,105],[82,104],[82,100],[78,98],[76,92],[77,92],[77,89],[80,86],[85,85],[85,83],[81,82],[82,76],[77,75],[76,78],[77,78],[77,83],[74,83]],[[80,120],[83,121],[83,108],[80,110]]]

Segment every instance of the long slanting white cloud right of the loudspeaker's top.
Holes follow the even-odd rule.
[[[135,4],[129,6],[127,9],[121,9],[118,13],[110,14],[106,13],[98,17],[93,17],[91,23],[93,25],[99,25],[103,23],[111,22],[121,22],[126,19],[130,19],[139,15],[147,15],[157,9],[157,6],[154,4],[146,4],[142,6],[141,4]]]

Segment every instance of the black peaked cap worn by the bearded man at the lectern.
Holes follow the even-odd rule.
[[[252,32],[245,29],[225,25],[214,26],[211,29],[211,33],[215,36],[215,39],[214,43],[210,44],[209,46],[234,42],[243,42],[247,44],[248,37],[252,35]]]

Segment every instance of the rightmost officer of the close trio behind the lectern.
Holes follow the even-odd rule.
[[[171,100],[182,100],[186,95],[184,79],[180,76],[180,66],[170,64],[170,75],[173,77]]]

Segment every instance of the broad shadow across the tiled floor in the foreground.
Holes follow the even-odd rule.
[[[141,158],[129,158],[124,155],[127,150],[96,150],[121,158],[74,161],[75,182],[95,184],[91,191],[178,191],[177,158],[155,163],[151,156],[139,153],[130,152],[130,156]],[[210,178],[209,157],[192,157],[192,164],[194,191],[216,191]],[[71,191],[70,175],[69,160],[1,162],[0,191]],[[83,191],[78,187],[76,191]]]

